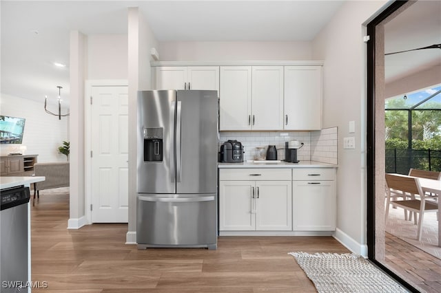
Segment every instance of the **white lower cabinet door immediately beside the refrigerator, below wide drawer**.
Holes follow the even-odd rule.
[[[253,181],[219,182],[219,230],[255,230]]]

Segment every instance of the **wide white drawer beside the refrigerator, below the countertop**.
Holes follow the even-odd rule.
[[[291,169],[220,169],[219,180],[291,180]]]

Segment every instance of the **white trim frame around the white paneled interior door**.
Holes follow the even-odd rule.
[[[84,149],[85,149],[85,197],[84,197],[84,215],[87,224],[92,224],[92,211],[90,205],[92,204],[92,158],[90,152],[92,151],[92,107],[90,105],[90,97],[92,96],[93,87],[128,87],[129,81],[126,79],[98,79],[85,80],[85,94],[84,94]],[[128,191],[127,191],[128,192]]]

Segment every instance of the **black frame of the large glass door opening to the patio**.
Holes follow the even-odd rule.
[[[385,243],[384,241],[384,212],[376,213],[376,211],[384,210],[378,208],[379,202],[384,202],[384,164],[381,164],[384,159],[384,144],[376,149],[378,142],[384,142],[384,138],[376,138],[376,133],[383,132],[376,127],[383,127],[383,124],[378,124],[380,116],[376,109],[383,105],[384,110],[384,29],[382,25],[391,18],[398,15],[398,10],[406,4],[408,0],[394,1],[390,6],[385,8],[378,16],[367,23],[367,257],[384,272],[389,274],[393,279],[396,279],[404,287],[411,292],[418,292],[407,281],[398,276],[395,272],[382,264],[381,259],[384,257]],[[382,70],[382,72],[380,72]],[[382,101],[380,99],[383,99]],[[380,102],[382,103],[380,105]],[[377,111],[377,112],[376,112]],[[382,113],[384,116],[384,113]],[[377,142],[378,140],[378,142]],[[381,141],[380,141],[381,140]],[[377,173],[377,174],[376,174]]]

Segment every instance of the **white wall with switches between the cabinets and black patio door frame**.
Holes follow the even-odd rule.
[[[323,127],[338,127],[336,238],[358,254],[366,246],[366,44],[362,23],[386,1],[347,1],[312,43],[314,59],[323,67]],[[349,121],[356,132],[349,133]],[[356,149],[342,149],[344,137],[354,136]]]

